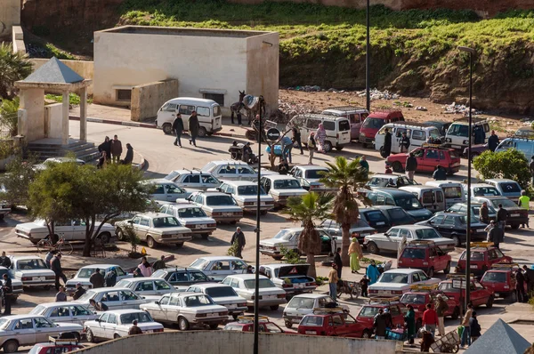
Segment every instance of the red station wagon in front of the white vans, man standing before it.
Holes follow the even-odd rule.
[[[425,144],[411,152],[417,158],[417,172],[433,173],[437,165],[447,170],[447,174],[460,170],[460,157],[454,149],[441,148],[439,145]],[[392,166],[393,172],[402,173],[406,167],[408,154],[394,154],[385,159]]]

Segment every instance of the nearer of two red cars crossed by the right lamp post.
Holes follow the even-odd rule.
[[[465,301],[465,276],[461,274],[449,274],[447,280],[443,280],[438,286],[443,294],[446,294],[450,299],[461,306]],[[488,309],[493,307],[495,296],[493,290],[481,285],[475,278],[471,278],[470,299],[474,307],[486,305]]]

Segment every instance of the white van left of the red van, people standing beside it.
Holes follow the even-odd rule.
[[[324,146],[326,152],[331,151],[333,148],[341,150],[345,145],[351,143],[351,124],[345,117],[307,113],[293,117],[287,124],[286,129],[298,126],[301,132],[301,142],[307,144],[308,135],[310,135],[310,132],[315,132],[321,123],[327,131],[327,139],[325,139]]]

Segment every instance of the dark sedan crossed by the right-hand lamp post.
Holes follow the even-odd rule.
[[[431,226],[440,232],[441,236],[450,238],[454,244],[459,247],[465,244],[467,214],[465,213],[437,213],[427,221],[417,222],[416,225]],[[478,218],[471,218],[471,239],[473,241],[483,241],[488,236],[484,231],[487,224],[481,222]]]

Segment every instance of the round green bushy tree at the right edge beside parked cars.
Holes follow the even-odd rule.
[[[481,178],[484,180],[506,178],[518,182],[523,189],[529,187],[531,178],[529,162],[519,150],[484,151],[473,159],[473,166],[476,171],[481,173]]]

